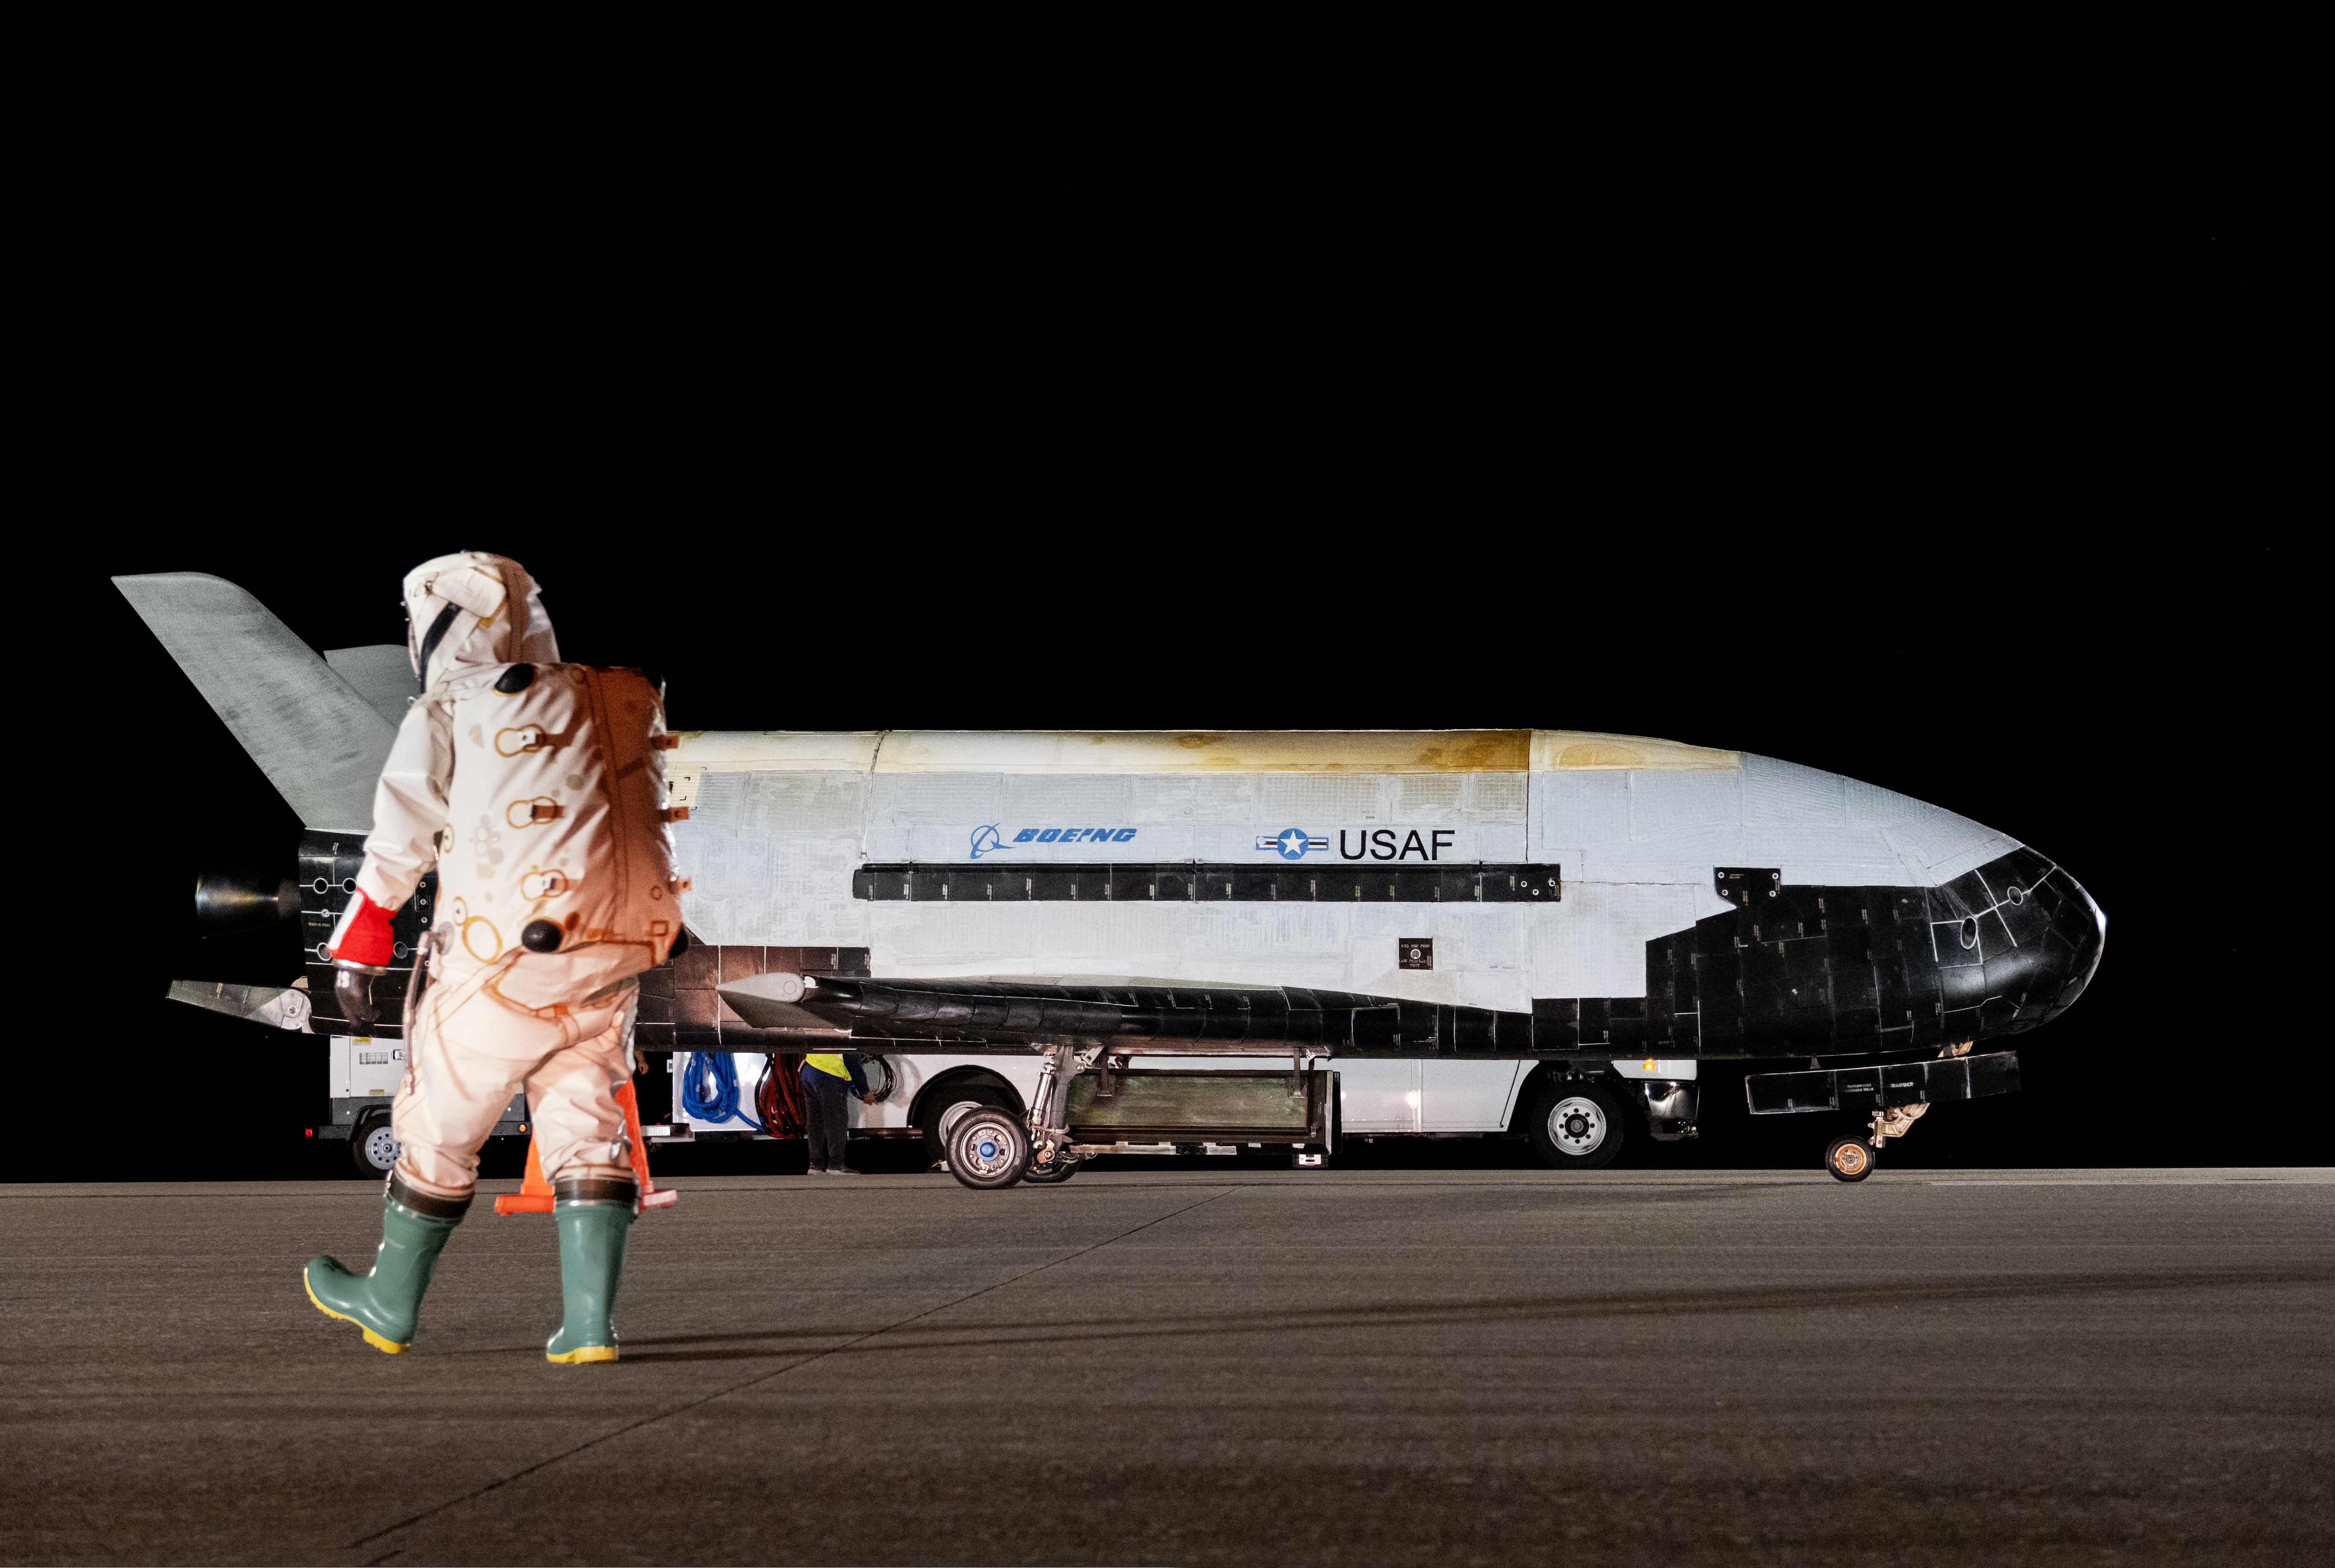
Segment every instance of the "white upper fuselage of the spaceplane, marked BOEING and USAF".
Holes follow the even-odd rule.
[[[1763,756],[1569,730],[696,733],[670,763],[698,940],[866,947],[876,975],[1146,975],[1527,1010],[1644,996],[1721,866],[1936,887],[2015,847]],[[1296,840],[1303,838],[1298,847]],[[880,903],[862,866],[1562,866],[1557,903]],[[1431,940],[1431,968],[1399,943]]]

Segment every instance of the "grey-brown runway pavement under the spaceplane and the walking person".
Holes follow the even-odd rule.
[[[677,1185],[616,1367],[546,1218],[390,1358],[378,1188],[0,1188],[0,1559],[2335,1561],[2323,1169]]]

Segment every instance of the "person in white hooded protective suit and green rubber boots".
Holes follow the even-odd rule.
[[[640,1206],[616,1087],[637,975],[682,929],[663,810],[658,693],[633,670],[558,663],[525,569],[465,551],[404,583],[420,698],[374,791],[357,891],[327,943],[353,1024],[378,1017],[390,915],[439,873],[406,994],[402,1143],[369,1274],[332,1258],[308,1300],[381,1351],[413,1342],[439,1251],[469,1211],[479,1148],[525,1090],[553,1188],[565,1318],[544,1353],[616,1360],[609,1321]]]

